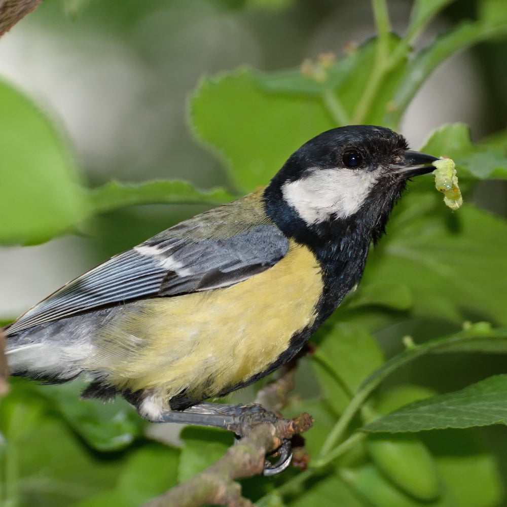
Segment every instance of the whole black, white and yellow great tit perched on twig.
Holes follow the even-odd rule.
[[[8,325],[9,368],[51,383],[86,375],[85,397],[121,393],[150,421],[233,428],[224,413],[237,410],[202,402],[300,351],[358,283],[407,179],[435,160],[387,128],[323,132],[267,187],[120,253]]]

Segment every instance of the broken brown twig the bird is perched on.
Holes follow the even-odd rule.
[[[277,449],[284,439],[308,430],[311,425],[312,418],[306,413],[295,419],[280,418],[274,424],[259,424],[216,463],[144,507],[197,507],[207,503],[252,507],[241,496],[241,486],[235,480],[261,474],[266,454]]]

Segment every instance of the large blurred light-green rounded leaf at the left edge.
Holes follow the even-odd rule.
[[[0,243],[40,243],[88,212],[68,142],[27,97],[0,82]]]

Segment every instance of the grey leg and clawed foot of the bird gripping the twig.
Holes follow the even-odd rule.
[[[233,431],[239,437],[245,437],[253,426],[261,423],[276,423],[280,417],[267,411],[261,405],[227,405],[222,403],[200,403],[188,409],[165,411],[160,419],[153,422],[176,422],[197,426],[212,426]],[[276,450],[279,459],[272,464],[268,460],[264,464],[265,476],[273,476],[283,472],[292,460],[291,441],[284,439]]]

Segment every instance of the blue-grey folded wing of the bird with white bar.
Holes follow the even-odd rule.
[[[11,324],[7,334],[104,305],[232,285],[273,266],[288,250],[286,237],[271,224],[232,238],[199,240],[185,237],[182,225],[70,281]]]

